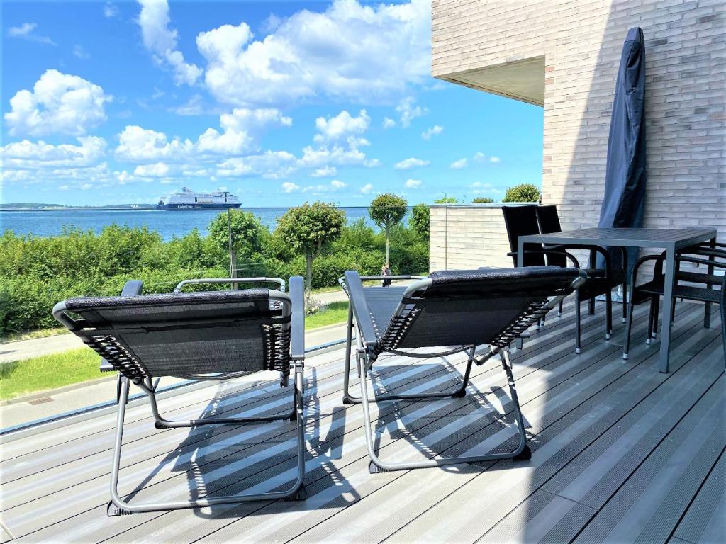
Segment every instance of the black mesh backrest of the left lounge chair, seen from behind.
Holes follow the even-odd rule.
[[[76,298],[65,308],[81,317],[73,332],[131,378],[289,369],[289,308],[268,289]]]

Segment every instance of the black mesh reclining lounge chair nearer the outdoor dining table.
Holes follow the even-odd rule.
[[[404,277],[404,276],[401,276]],[[490,459],[531,456],[512,374],[509,345],[555,308],[564,297],[584,283],[586,276],[576,268],[550,266],[505,268],[501,270],[434,272],[408,287],[363,287],[355,271],[340,279],[350,300],[343,403],[362,403],[370,471],[418,469],[454,463],[474,463]],[[361,376],[361,396],[348,391],[352,333],[356,327],[356,364]],[[489,345],[489,353],[476,358],[479,345]],[[402,351],[409,348],[438,347],[436,353]],[[428,358],[465,352],[468,355],[461,386],[456,390],[418,395],[375,395],[373,402],[464,397],[473,363],[481,365],[499,355],[507,374],[519,444],[508,453],[431,459],[416,463],[388,463],[375,453],[367,391],[368,373],[381,353]]]

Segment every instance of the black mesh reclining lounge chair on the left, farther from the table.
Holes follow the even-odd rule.
[[[280,290],[187,292],[186,284],[240,282],[280,284]],[[120,297],[74,298],[59,302],[53,316],[102,356],[102,371],[118,371],[118,422],[111,469],[110,516],[134,512],[201,508],[248,500],[305,498],[305,421],[303,417],[304,302],[303,279],[203,279],[182,281],[168,294],[140,294],[141,281],[129,281]],[[287,387],[294,368],[292,409],[279,416],[170,421],[160,415],[156,390],[163,376],[194,380],[229,379],[255,371],[280,372]],[[123,418],[129,382],[149,397],[158,429],[211,424],[249,424],[296,420],[298,477],[287,490],[168,503],[129,503],[118,495]]]

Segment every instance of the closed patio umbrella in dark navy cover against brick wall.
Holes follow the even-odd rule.
[[[643,29],[628,30],[615,83],[608,136],[605,199],[599,227],[643,226],[645,207],[645,42]],[[622,253],[608,247],[613,268],[622,267]],[[637,249],[628,250],[629,269]],[[597,267],[604,268],[598,255]]]

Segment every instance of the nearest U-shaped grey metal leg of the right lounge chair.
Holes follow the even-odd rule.
[[[487,453],[481,456],[467,456],[467,457],[454,457],[446,459],[429,459],[428,461],[418,461],[416,463],[388,463],[381,460],[375,453],[374,440],[372,434],[372,421],[370,418],[370,403],[368,400],[368,384],[367,384],[367,373],[362,372],[361,376],[361,397],[362,397],[362,408],[363,408],[363,419],[364,419],[364,431],[366,438],[366,445],[368,448],[368,455],[370,456],[369,470],[372,474],[380,472],[388,472],[394,470],[409,470],[409,469],[424,469],[433,466],[444,466],[460,463],[477,463],[479,461],[491,461],[494,459],[517,459],[526,460],[531,458],[531,451],[527,446],[527,435],[524,430],[524,421],[522,417],[521,408],[519,405],[519,399],[517,397],[517,390],[514,383],[514,376],[512,374],[512,363],[509,358],[509,349],[503,348],[499,351],[499,357],[502,359],[502,366],[507,374],[507,382],[509,384],[510,398],[512,399],[515,424],[519,435],[519,443],[515,450],[507,453]]]

